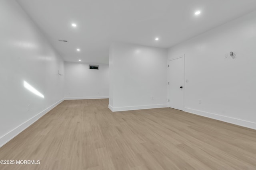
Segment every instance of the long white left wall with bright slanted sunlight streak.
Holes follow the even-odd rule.
[[[1,147],[62,100],[64,62],[15,0],[0,1],[0,21]]]

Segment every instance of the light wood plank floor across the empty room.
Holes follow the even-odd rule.
[[[170,108],[67,100],[0,148],[0,160],[40,160],[0,170],[256,170],[256,131]]]

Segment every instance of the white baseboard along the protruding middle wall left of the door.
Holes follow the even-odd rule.
[[[128,111],[128,110],[140,110],[140,109],[155,109],[155,108],[163,108],[168,107],[167,104],[157,104],[157,105],[144,105],[144,106],[127,106],[127,107],[112,107],[108,105],[108,108],[111,111]]]

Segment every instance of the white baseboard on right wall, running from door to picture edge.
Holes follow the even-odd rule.
[[[218,115],[218,114],[209,113],[209,112],[206,112],[206,111],[200,111],[200,110],[196,110],[196,109],[190,109],[190,108],[185,108],[184,111],[186,111],[188,113],[195,114],[195,115],[209,117],[209,118],[216,119],[216,120],[219,120],[219,121],[232,123],[234,125],[248,127],[250,129],[256,129],[256,123],[251,122],[251,121],[245,121],[245,120],[236,119],[236,118],[233,118],[233,117]]]

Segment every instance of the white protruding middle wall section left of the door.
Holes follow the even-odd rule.
[[[109,66],[112,111],[167,107],[167,49],[113,43]]]

